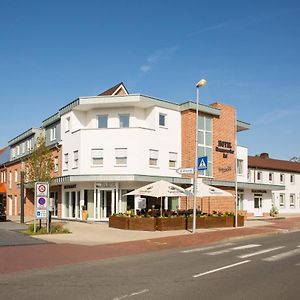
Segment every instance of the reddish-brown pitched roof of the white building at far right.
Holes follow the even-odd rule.
[[[300,163],[269,158],[268,155],[248,156],[248,167],[300,173]]]

